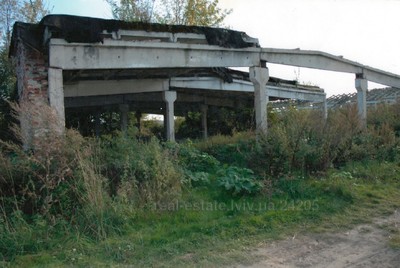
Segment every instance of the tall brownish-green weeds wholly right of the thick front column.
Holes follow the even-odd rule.
[[[278,117],[257,156],[266,159],[271,175],[326,171],[350,161],[394,161],[399,152],[393,127],[378,120],[362,128],[355,106],[331,111],[326,121],[315,111],[294,109]]]

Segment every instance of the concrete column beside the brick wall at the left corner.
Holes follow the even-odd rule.
[[[55,128],[64,132],[65,108],[64,108],[64,87],[62,69],[48,69],[48,98],[50,107],[56,111],[57,126]]]

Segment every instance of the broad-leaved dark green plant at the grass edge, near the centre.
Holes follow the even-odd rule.
[[[255,194],[262,189],[262,183],[257,181],[251,169],[224,166],[217,176],[218,186],[233,196]]]

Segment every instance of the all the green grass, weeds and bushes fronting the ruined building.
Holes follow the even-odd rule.
[[[370,110],[367,129],[352,107],[326,122],[288,109],[270,113],[265,137],[161,143],[132,128],[100,139],[47,133],[29,152],[3,142],[0,262],[247,263],[260,241],[390,214],[400,201],[399,107]]]

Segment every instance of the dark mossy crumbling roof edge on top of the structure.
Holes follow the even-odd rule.
[[[67,42],[98,43],[103,41],[102,32],[118,30],[140,30],[147,32],[196,33],[204,34],[209,45],[226,48],[253,47],[254,42],[244,32],[203,26],[168,25],[144,22],[126,22],[72,15],[47,15],[38,24],[16,22],[13,28],[10,54],[13,55],[16,40],[22,40],[36,50],[43,51],[44,29],[48,28],[51,36]],[[259,44],[256,44],[259,47]]]

